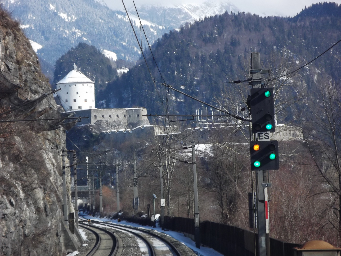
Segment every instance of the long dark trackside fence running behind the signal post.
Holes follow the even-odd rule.
[[[165,228],[194,235],[194,219],[165,216]],[[254,237],[258,241],[257,233],[209,221],[200,223],[200,236],[203,245],[226,256],[254,256]],[[293,256],[293,247],[298,246],[270,238],[271,256]]]

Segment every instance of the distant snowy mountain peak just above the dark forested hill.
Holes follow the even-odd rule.
[[[135,9],[131,8],[129,11],[132,15],[136,15]],[[182,24],[191,23],[194,20],[225,12],[238,13],[239,10],[228,1],[206,1],[198,4],[174,4],[173,6],[142,5],[137,8],[137,11],[140,18],[152,23],[179,28]]]

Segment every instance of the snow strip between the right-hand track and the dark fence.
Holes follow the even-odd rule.
[[[115,224],[121,224],[121,225],[125,225],[125,226],[153,229],[155,231],[167,234],[168,236],[179,240],[180,242],[182,242],[183,244],[185,244],[186,246],[191,248],[194,252],[197,252],[199,256],[223,256],[221,253],[214,251],[212,248],[203,247],[203,246],[201,246],[200,249],[196,248],[195,242],[192,241],[192,239],[185,237],[182,233],[179,233],[176,231],[162,231],[162,229],[160,227],[153,228],[153,227],[142,226],[142,225],[139,225],[136,223],[130,223],[130,222],[126,222],[126,221],[121,221],[120,223],[118,223],[117,219],[97,218],[97,217],[93,217],[93,216],[89,216],[89,215],[84,215],[83,217],[86,219],[93,219],[93,220],[102,221],[102,222],[109,221],[109,222],[112,222]]]

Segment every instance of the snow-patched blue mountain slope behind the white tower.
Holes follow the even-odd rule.
[[[4,8],[19,20],[38,56],[55,65],[71,47],[85,42],[110,53],[114,59],[135,61],[139,47],[128,17],[108,8],[103,0],[1,0]],[[139,21],[132,20],[139,30]],[[169,28],[142,20],[150,43]],[[173,28],[171,28],[173,29]],[[142,38],[143,40],[143,38]],[[143,41],[143,46],[147,43]]]

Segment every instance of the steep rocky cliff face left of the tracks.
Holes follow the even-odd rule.
[[[19,24],[1,8],[0,68],[0,120],[57,117],[52,94],[35,100],[50,85]],[[65,132],[58,122],[0,123],[0,255],[63,255],[77,247],[62,221]]]

